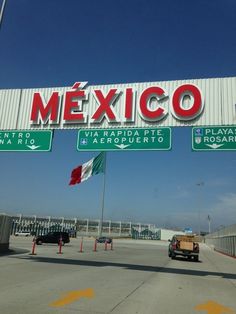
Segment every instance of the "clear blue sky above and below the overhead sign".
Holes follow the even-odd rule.
[[[0,4],[2,1],[0,0]],[[0,29],[0,89],[236,76],[235,0],[8,0]],[[103,176],[69,186],[96,153],[77,130],[50,153],[0,153],[0,210],[99,218]],[[236,153],[192,152],[174,128],[168,152],[109,152],[105,219],[208,230],[236,223]],[[203,185],[198,186],[198,183]]]

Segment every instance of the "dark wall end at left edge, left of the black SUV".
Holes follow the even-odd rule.
[[[6,214],[0,214],[0,252],[9,249],[12,218]]]

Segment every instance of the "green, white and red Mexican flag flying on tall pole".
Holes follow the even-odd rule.
[[[101,172],[105,172],[105,153],[100,153],[97,157],[73,169],[69,185],[79,184]]]

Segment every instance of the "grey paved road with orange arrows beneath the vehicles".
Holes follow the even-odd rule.
[[[200,262],[171,260],[168,243],[115,240],[113,250],[80,239],[58,253],[11,238],[0,256],[0,313],[236,313],[236,259],[201,246]]]

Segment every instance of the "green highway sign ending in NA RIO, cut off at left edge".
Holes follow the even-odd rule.
[[[0,152],[48,152],[52,146],[49,131],[0,131]]]

